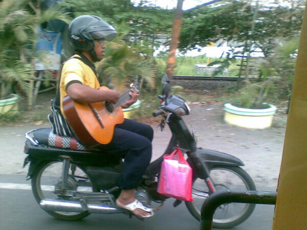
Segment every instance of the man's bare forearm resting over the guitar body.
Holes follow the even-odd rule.
[[[67,87],[67,94],[74,101],[81,103],[94,103],[100,101],[111,101],[115,104],[120,94],[116,90],[99,90],[83,85],[81,83],[72,83]]]

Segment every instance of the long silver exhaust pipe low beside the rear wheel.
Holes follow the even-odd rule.
[[[118,208],[101,204],[86,203],[85,200],[71,201],[71,200],[45,199],[41,200],[39,205],[40,208],[42,208],[43,210],[53,211],[53,212],[82,213],[85,211],[89,211],[90,213],[103,213],[103,214],[123,213],[123,210],[120,210]]]

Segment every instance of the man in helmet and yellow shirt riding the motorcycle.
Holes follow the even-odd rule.
[[[76,137],[67,122],[63,110],[63,98],[69,96],[79,103],[110,101],[115,104],[120,94],[116,90],[99,90],[99,82],[94,62],[104,56],[105,41],[112,41],[117,36],[115,29],[103,19],[94,15],[75,18],[69,26],[69,38],[75,54],[64,62],[57,97],[52,102],[49,120],[53,132],[62,136]],[[131,90],[130,99],[121,106],[127,108],[134,104],[139,95]],[[110,143],[100,145],[102,153],[108,152],[115,157],[124,158],[123,174],[119,180],[121,193],[116,204],[131,211],[140,218],[153,215],[152,209],[145,207],[135,198],[135,189],[150,163],[153,129],[146,124],[125,119],[115,126]]]

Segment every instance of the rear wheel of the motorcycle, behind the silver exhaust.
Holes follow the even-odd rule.
[[[81,167],[70,164],[68,180],[65,182],[65,189],[62,190],[62,166],[61,160],[43,162],[36,169],[32,177],[32,192],[39,204],[43,199],[53,200],[78,200],[77,193],[73,191],[93,192],[90,178]],[[46,211],[46,210],[45,210]],[[51,216],[62,220],[79,220],[88,215],[89,212],[57,212],[46,211]]]

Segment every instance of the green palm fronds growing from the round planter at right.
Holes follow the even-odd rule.
[[[293,38],[278,45],[274,53],[261,60],[256,82],[246,81],[234,99],[244,108],[261,108],[268,99],[290,98],[295,68],[295,52],[299,39]]]

